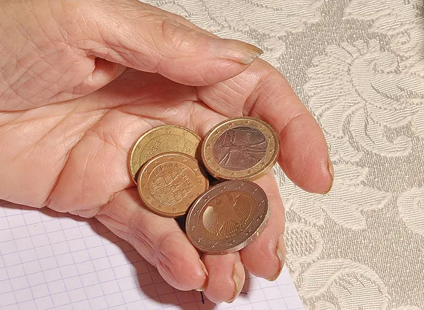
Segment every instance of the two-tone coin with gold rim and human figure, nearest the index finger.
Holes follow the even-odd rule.
[[[238,117],[209,131],[201,145],[201,158],[216,179],[253,181],[275,165],[279,147],[271,125],[253,117]]]

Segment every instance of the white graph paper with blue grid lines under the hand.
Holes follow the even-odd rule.
[[[167,285],[97,220],[0,203],[0,309],[300,310],[288,270],[275,282],[247,274],[232,304]]]

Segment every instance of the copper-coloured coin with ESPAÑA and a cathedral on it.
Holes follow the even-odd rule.
[[[163,153],[148,160],[140,169],[137,189],[144,205],[164,217],[187,213],[209,182],[199,162],[183,153]]]

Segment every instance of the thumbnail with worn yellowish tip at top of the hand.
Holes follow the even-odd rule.
[[[211,53],[222,59],[240,62],[240,64],[250,64],[264,51],[252,44],[237,40],[213,39],[211,42]]]

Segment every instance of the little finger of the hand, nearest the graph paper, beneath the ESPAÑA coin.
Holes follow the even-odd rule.
[[[117,193],[95,217],[134,246],[172,287],[178,290],[205,287],[206,268],[177,222],[144,208],[135,188]]]

